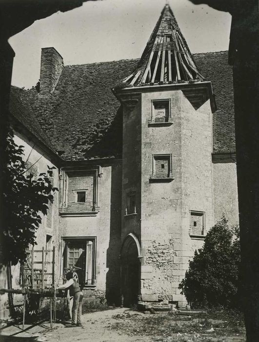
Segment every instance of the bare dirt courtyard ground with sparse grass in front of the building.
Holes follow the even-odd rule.
[[[48,321],[34,325],[11,325],[1,330],[4,342],[244,342],[244,327],[239,318],[215,318],[151,314],[115,308],[83,314],[83,327],[65,328]]]

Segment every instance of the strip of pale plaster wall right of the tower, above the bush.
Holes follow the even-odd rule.
[[[239,224],[237,166],[232,162],[213,163],[214,216],[215,223],[222,214],[229,224]]]

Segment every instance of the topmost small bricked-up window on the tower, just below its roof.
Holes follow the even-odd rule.
[[[151,101],[150,126],[171,125],[171,101],[170,99]]]

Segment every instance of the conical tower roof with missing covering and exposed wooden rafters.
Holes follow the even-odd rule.
[[[123,82],[131,86],[203,81],[168,4],[163,8],[137,69]]]

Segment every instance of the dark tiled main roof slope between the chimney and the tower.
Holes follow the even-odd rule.
[[[111,88],[137,63],[67,65],[52,95],[33,91],[40,124],[64,159],[121,157],[122,115]]]

